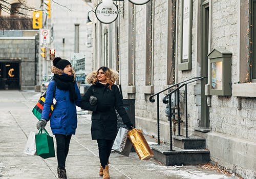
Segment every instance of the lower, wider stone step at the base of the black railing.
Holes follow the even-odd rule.
[[[206,149],[181,149],[169,145],[152,146],[154,158],[163,165],[199,165],[210,161],[210,151]]]

